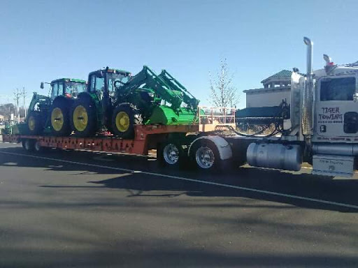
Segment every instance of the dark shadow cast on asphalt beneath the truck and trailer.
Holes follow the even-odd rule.
[[[8,147],[0,151],[29,154],[20,147]],[[327,200],[330,202],[340,202],[358,206],[358,180],[355,179],[327,179],[327,177],[317,177],[306,173],[289,173],[279,170],[265,170],[259,168],[236,168],[224,174],[210,174],[199,170],[180,170],[171,168],[158,168],[155,158],[143,156],[119,156],[103,153],[93,153],[87,151],[57,151],[52,150],[46,154],[31,154],[47,158],[56,158],[63,161],[76,161],[78,163],[66,163],[45,159],[36,159],[27,156],[15,156],[0,153],[0,165],[15,165],[18,167],[45,168],[46,170],[59,171],[78,171],[77,174],[116,174],[113,179],[101,181],[88,181],[101,187],[124,189],[128,191],[129,198],[138,196],[166,196],[176,198],[179,195],[193,197],[213,196],[213,197],[234,197],[252,198],[257,200],[268,200],[305,207],[310,209],[326,209],[341,212],[357,212],[358,209],[343,207],[335,204],[324,204],[310,200],[299,200],[272,193],[259,193],[255,191],[245,191],[238,188],[226,186],[215,186],[199,182],[186,181],[185,178],[196,179],[199,181],[209,181],[229,186],[252,188],[259,191],[270,191],[274,193],[284,193],[305,198],[315,198],[317,200]],[[14,161],[15,159],[15,161]],[[93,166],[99,165],[99,166]],[[101,166],[104,166],[103,168]],[[108,168],[109,167],[109,168]],[[111,169],[113,168],[113,169]],[[117,170],[117,168],[124,170]],[[133,171],[134,170],[134,171]],[[130,176],[118,174],[129,173]],[[173,177],[161,177],[143,172],[153,172],[166,174]],[[184,178],[184,179],[182,179]],[[76,184],[76,181],[73,181]],[[52,188],[76,188],[86,186],[76,185],[46,186]],[[91,187],[91,185],[89,185]],[[175,193],[173,193],[175,192]],[[235,202],[233,205],[237,204]]]

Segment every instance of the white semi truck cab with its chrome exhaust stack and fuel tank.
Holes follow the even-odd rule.
[[[313,174],[352,176],[358,156],[358,64],[336,65],[324,54],[325,66],[312,69],[313,42],[307,45],[307,73],[292,73],[290,117],[282,136],[248,146],[250,165],[299,170],[302,159]]]

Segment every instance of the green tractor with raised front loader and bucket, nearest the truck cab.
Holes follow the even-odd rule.
[[[127,71],[106,68],[90,73],[87,92],[73,102],[71,122],[81,137],[105,127],[118,137],[133,138],[137,124],[193,124],[198,104],[166,70],[156,75],[144,66],[131,77]]]

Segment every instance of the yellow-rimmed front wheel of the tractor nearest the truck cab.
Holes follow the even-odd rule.
[[[124,122],[124,123],[122,123]],[[134,138],[134,125],[142,124],[141,114],[129,103],[121,103],[112,114],[113,135],[124,139]]]

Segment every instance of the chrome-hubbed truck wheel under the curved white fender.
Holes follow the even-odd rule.
[[[229,161],[222,161],[219,151],[209,140],[197,140],[192,144],[189,155],[190,162],[205,172],[222,171],[229,167]]]

